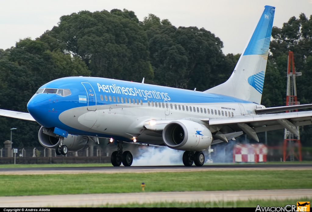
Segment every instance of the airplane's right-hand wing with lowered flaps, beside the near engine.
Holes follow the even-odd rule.
[[[256,133],[286,128],[295,135],[299,135],[297,126],[312,124],[312,111],[237,116],[231,118],[201,119],[214,126],[229,126],[244,131],[256,141],[259,141]]]

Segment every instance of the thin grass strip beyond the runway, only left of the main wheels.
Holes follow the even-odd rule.
[[[111,163],[54,163],[54,164],[1,164],[0,168],[34,168],[34,167],[103,167]]]

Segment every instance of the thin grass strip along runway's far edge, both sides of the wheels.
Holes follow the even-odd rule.
[[[205,165],[244,165],[244,164],[310,164],[312,161],[286,161],[286,162],[266,162],[266,163],[212,163]],[[181,164],[183,165],[183,164]],[[0,164],[0,168],[33,168],[33,167],[103,167],[113,166],[111,163],[55,163],[55,164]]]

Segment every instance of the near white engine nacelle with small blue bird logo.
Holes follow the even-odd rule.
[[[177,120],[165,126],[163,141],[172,149],[202,151],[210,146],[212,134],[205,125],[190,120]]]

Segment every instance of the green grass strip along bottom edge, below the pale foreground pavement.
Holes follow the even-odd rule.
[[[284,207],[285,205],[296,205],[297,201],[312,202],[310,198],[299,198],[294,200],[248,200],[248,201],[220,201],[216,202],[156,202],[156,203],[131,203],[123,205],[97,205],[105,208],[256,208],[260,207]],[[84,206],[82,206],[84,207]],[[87,207],[87,206],[86,206]],[[90,206],[89,206],[90,207]]]

